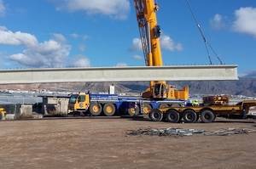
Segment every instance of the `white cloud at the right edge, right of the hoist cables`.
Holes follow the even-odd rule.
[[[236,20],[233,22],[234,31],[256,37],[256,8],[239,8],[236,10],[235,15]]]

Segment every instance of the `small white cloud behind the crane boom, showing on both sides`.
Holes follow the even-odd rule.
[[[163,48],[165,50],[169,50],[171,52],[183,50],[183,45],[181,43],[174,42],[172,40],[172,37],[169,37],[167,35],[162,35],[160,37],[160,44],[161,44],[161,48]],[[142,51],[143,50],[143,45],[142,45],[141,39],[133,38],[132,44],[131,44],[131,50],[132,51]]]

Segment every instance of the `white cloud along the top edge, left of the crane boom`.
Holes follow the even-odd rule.
[[[116,19],[125,19],[130,11],[129,0],[65,0],[57,1],[57,10],[84,11],[86,14],[104,14]]]

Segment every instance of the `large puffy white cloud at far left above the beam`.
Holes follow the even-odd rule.
[[[37,37],[29,33],[9,31],[3,26],[0,27],[0,44],[24,46],[22,53],[12,54],[9,59],[28,67],[62,67],[71,50],[61,34],[38,42]]]

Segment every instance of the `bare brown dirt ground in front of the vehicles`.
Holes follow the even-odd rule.
[[[253,120],[171,124],[131,119],[0,122],[0,168],[256,168],[256,133],[127,136],[141,127],[256,129]]]

